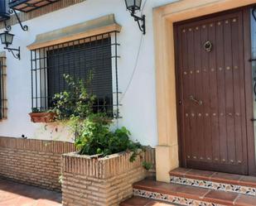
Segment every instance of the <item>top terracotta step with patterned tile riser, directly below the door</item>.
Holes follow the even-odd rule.
[[[256,177],[253,176],[178,168],[171,170],[170,181],[174,184],[256,195]]]

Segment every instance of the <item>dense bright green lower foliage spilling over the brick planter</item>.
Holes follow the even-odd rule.
[[[110,122],[104,114],[92,114],[83,122],[76,122],[73,124],[75,130],[78,125],[80,129],[76,131],[75,146],[80,155],[109,156],[121,151],[131,151],[130,160],[134,161],[142,152],[141,144],[130,140],[130,132],[125,127],[110,131]]]

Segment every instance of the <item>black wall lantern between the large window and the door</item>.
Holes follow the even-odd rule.
[[[142,0],[125,0],[126,8],[131,13],[131,16],[134,18],[136,22],[138,22],[138,27],[140,31],[143,32],[143,35],[146,34],[146,17],[142,15],[142,17],[138,17],[135,15],[135,12],[141,9]]]

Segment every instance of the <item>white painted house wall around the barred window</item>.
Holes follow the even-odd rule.
[[[121,55],[118,60],[119,90],[124,92],[128,88],[125,95],[121,95],[123,118],[118,121],[118,127],[128,127],[133,139],[143,145],[156,146],[157,108],[152,8],[173,1],[142,1],[146,2],[143,11],[147,18],[146,36],[142,36],[137,23],[125,10],[124,0],[87,0],[24,22],[29,26],[29,31],[22,31],[19,25],[12,26],[12,33],[16,35],[12,47],[21,46],[22,60],[16,60],[11,53],[7,53],[8,112],[7,120],[0,122],[0,136],[21,137],[24,134],[29,138],[67,139],[65,131],[60,127],[56,132],[55,125],[35,124],[30,121],[28,113],[31,112],[31,61],[27,46],[35,41],[37,34],[114,13],[118,24],[123,26],[118,34],[118,42],[121,44],[118,47],[118,55]],[[137,69],[133,74],[141,36],[142,46]]]

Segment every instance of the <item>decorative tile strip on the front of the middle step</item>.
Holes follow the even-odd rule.
[[[222,204],[207,203],[207,202],[196,200],[196,199],[186,199],[178,196],[173,196],[170,194],[149,192],[142,189],[133,189],[133,195],[140,196],[142,198],[147,198],[147,199],[161,200],[171,204],[181,204],[181,205],[189,205],[189,206],[191,205],[193,206],[224,206]]]

